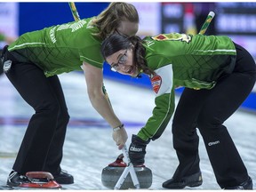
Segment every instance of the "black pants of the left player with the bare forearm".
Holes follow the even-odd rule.
[[[14,63],[6,74],[21,97],[35,109],[22,140],[13,170],[60,172],[62,148],[69,120],[58,76],[46,78],[31,63]]]

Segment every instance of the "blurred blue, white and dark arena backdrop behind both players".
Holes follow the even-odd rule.
[[[76,2],[80,18],[99,14],[109,3]],[[256,59],[256,2],[136,2],[140,14],[138,35],[154,36],[159,33],[196,34],[202,27],[208,12],[216,16],[205,35],[226,35],[237,44],[241,44]],[[68,2],[0,2],[0,33],[20,36],[28,31],[73,21]],[[4,45],[4,42],[0,42]],[[113,76],[106,65],[106,76]],[[136,79],[118,76],[125,83],[136,83],[150,87],[148,78]],[[256,88],[254,88],[256,92]]]

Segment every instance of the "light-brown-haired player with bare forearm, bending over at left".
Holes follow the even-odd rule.
[[[61,73],[84,70],[92,106],[117,128],[113,140],[123,148],[127,133],[102,89],[100,44],[112,33],[133,36],[138,27],[139,15],[132,4],[111,3],[97,17],[29,32],[5,46],[5,74],[35,109],[7,180],[9,186],[30,182],[25,174],[35,171],[51,172],[60,184],[74,182],[73,176],[60,168],[69,120],[57,76]]]

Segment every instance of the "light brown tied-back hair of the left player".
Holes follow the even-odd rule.
[[[105,39],[113,34],[121,24],[122,20],[139,23],[139,14],[133,4],[111,3],[108,7],[92,20],[92,24],[100,29],[94,36]]]

